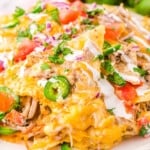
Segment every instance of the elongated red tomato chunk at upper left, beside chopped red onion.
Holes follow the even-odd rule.
[[[14,56],[14,61],[19,62],[25,60],[27,55],[30,54],[37,44],[31,40],[25,40],[18,48],[18,53]]]

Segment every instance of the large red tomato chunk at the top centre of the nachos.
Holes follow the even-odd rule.
[[[74,1],[70,4],[70,8],[61,9],[59,13],[60,22],[68,24],[75,21],[80,15],[85,16],[84,4],[81,1]]]

